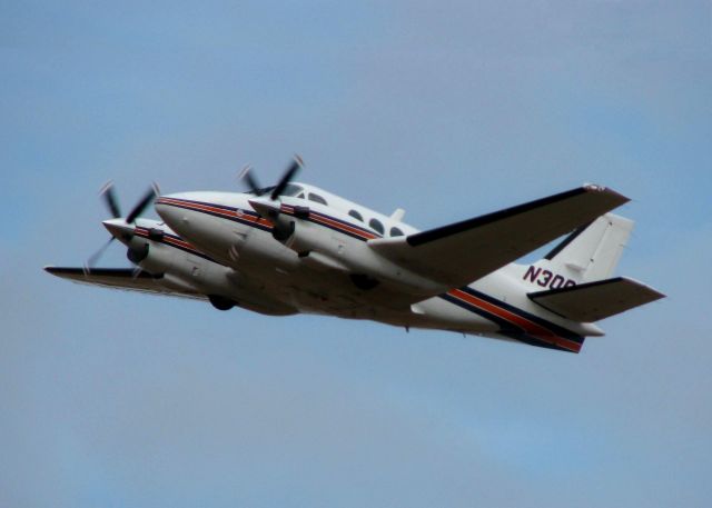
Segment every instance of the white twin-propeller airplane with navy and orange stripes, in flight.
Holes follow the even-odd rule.
[[[614,277],[633,221],[611,213],[629,198],[584,185],[419,231],[390,216],[295,182],[245,192],[151,189],[121,216],[101,193],[109,242],[85,267],[44,267],[73,282],[209,301],[268,316],[313,313],[447,330],[580,352],[602,319],[664,298]],[[151,203],[162,219],[139,217]],[[563,237],[542,259],[515,261]],[[95,268],[118,239],[136,268]]]

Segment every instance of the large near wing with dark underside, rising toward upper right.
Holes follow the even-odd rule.
[[[396,265],[457,288],[627,201],[605,187],[584,186],[408,237],[369,240],[368,245]]]

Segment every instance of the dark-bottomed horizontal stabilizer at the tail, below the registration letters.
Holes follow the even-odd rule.
[[[528,297],[564,318],[593,322],[665,296],[633,279],[616,277],[567,288],[530,292]]]

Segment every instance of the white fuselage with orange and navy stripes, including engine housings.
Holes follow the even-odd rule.
[[[285,242],[273,237],[273,221],[254,210],[254,195],[161,197],[156,209],[165,223],[140,220],[131,240],[150,246],[141,267],[164,273],[172,285],[269,315],[370,319],[575,351],[584,336],[601,335],[593,325],[570,321],[532,302],[526,293],[537,287],[524,280],[521,265],[508,265],[465,288],[437,288],[367,245],[369,239],[417,232],[415,228],[316,187],[295,187],[300,192],[281,196],[278,203],[277,220],[295,223]],[[314,195],[328,205],[309,199]],[[438,296],[414,299],[418,291]]]

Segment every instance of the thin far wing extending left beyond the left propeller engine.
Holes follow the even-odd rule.
[[[147,271],[139,271],[135,275],[130,268],[91,268],[85,270],[83,268],[44,267],[44,270],[62,279],[83,285],[171,297],[206,299],[205,295],[174,283],[162,276],[154,276]]]

